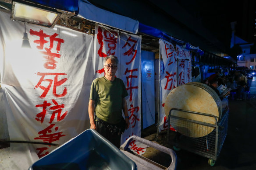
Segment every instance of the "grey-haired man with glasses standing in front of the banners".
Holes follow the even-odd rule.
[[[92,82],[89,118],[91,128],[96,129],[103,137],[120,147],[121,133],[129,128],[129,116],[124,97],[128,96],[124,83],[115,77],[118,59],[115,56],[104,58],[105,76]],[[122,117],[122,110],[124,118]],[[94,116],[95,112],[95,116]]]

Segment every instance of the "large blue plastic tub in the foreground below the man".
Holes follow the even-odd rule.
[[[137,170],[136,164],[93,129],[33,163],[28,170]]]

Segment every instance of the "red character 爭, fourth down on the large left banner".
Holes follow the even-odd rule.
[[[52,129],[53,126],[55,124],[51,124],[50,126],[48,126],[47,128],[43,129],[42,131],[38,132],[39,134],[39,137],[36,137],[34,138],[35,140],[39,139],[39,140],[42,140],[43,142],[46,142],[46,143],[52,143],[52,142],[55,142],[55,141],[58,141],[60,139],[60,137],[63,137],[65,135],[62,135],[62,132],[57,132],[57,133],[52,133]],[[55,131],[58,130],[59,127],[55,127]],[[40,135],[42,134],[42,135]]]

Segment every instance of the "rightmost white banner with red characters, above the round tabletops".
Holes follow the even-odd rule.
[[[191,82],[191,53],[176,45],[178,58],[178,86]]]

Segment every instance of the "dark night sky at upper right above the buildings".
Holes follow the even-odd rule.
[[[224,43],[228,44],[224,37],[229,35],[232,21],[237,21],[235,35],[245,41],[253,42],[255,0],[178,0],[178,2]]]

